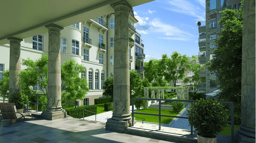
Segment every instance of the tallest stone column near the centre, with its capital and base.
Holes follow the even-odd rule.
[[[125,130],[132,122],[130,116],[129,71],[129,10],[127,1],[111,4],[115,13],[114,96],[113,116],[106,123],[107,130]]]

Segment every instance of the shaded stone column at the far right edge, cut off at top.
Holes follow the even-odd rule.
[[[255,143],[255,0],[244,1],[241,125],[236,140]]]

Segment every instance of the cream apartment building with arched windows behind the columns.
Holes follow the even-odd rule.
[[[138,20],[134,17],[133,10],[129,13],[127,23],[129,37],[135,39],[136,35],[139,35],[134,28]],[[80,75],[81,78],[86,78],[88,81],[89,91],[85,99],[75,102],[79,106],[93,105],[94,99],[102,97],[105,79],[114,76],[114,28],[115,16],[111,13],[64,27],[61,30],[61,63],[69,59],[76,60],[85,69]],[[135,40],[135,43],[136,45],[141,43],[141,36],[139,41]],[[144,67],[145,55],[144,59],[141,58],[142,53],[144,54],[144,47],[139,45],[143,50],[138,55],[135,43],[129,42],[130,70],[136,69],[135,61],[137,60],[142,61],[140,69]],[[9,44],[0,46],[0,80],[3,78],[3,72],[9,69],[9,46]],[[48,32],[21,41],[21,59],[35,60],[42,54],[48,54]],[[25,68],[21,65],[21,69]],[[143,70],[138,69],[138,72],[143,75]],[[38,90],[38,88],[34,89]]]

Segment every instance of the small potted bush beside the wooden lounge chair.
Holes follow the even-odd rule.
[[[23,108],[28,103],[28,98],[24,93],[16,92],[9,97],[9,103],[15,103],[17,112],[23,113]]]

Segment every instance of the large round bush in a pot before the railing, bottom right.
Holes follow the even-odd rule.
[[[227,126],[227,109],[213,99],[200,99],[188,109],[189,125],[194,126],[198,143],[216,143],[218,134]]]

